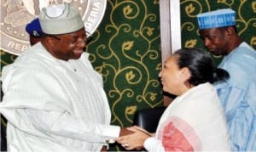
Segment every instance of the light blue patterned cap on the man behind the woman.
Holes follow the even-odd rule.
[[[218,9],[197,15],[199,29],[236,25],[236,12],[230,8]]]

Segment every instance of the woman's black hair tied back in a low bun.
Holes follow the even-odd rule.
[[[177,50],[177,66],[187,67],[190,71],[188,82],[197,86],[205,82],[224,81],[230,77],[226,70],[214,67],[212,57],[206,51],[197,48],[182,48]]]

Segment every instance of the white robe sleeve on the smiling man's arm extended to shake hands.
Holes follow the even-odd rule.
[[[74,138],[90,143],[108,144],[119,137],[120,127],[84,121],[67,111],[0,109],[13,126],[41,138]]]

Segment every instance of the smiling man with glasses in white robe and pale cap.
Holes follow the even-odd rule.
[[[3,68],[9,151],[100,151],[131,133],[111,126],[100,76],[84,53],[86,32],[70,3],[43,8],[43,35]],[[104,149],[105,148],[105,149]]]

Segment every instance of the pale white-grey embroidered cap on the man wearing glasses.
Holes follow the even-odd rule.
[[[79,31],[84,27],[79,10],[74,8],[71,3],[43,8],[38,18],[42,31],[46,34],[67,34]]]

